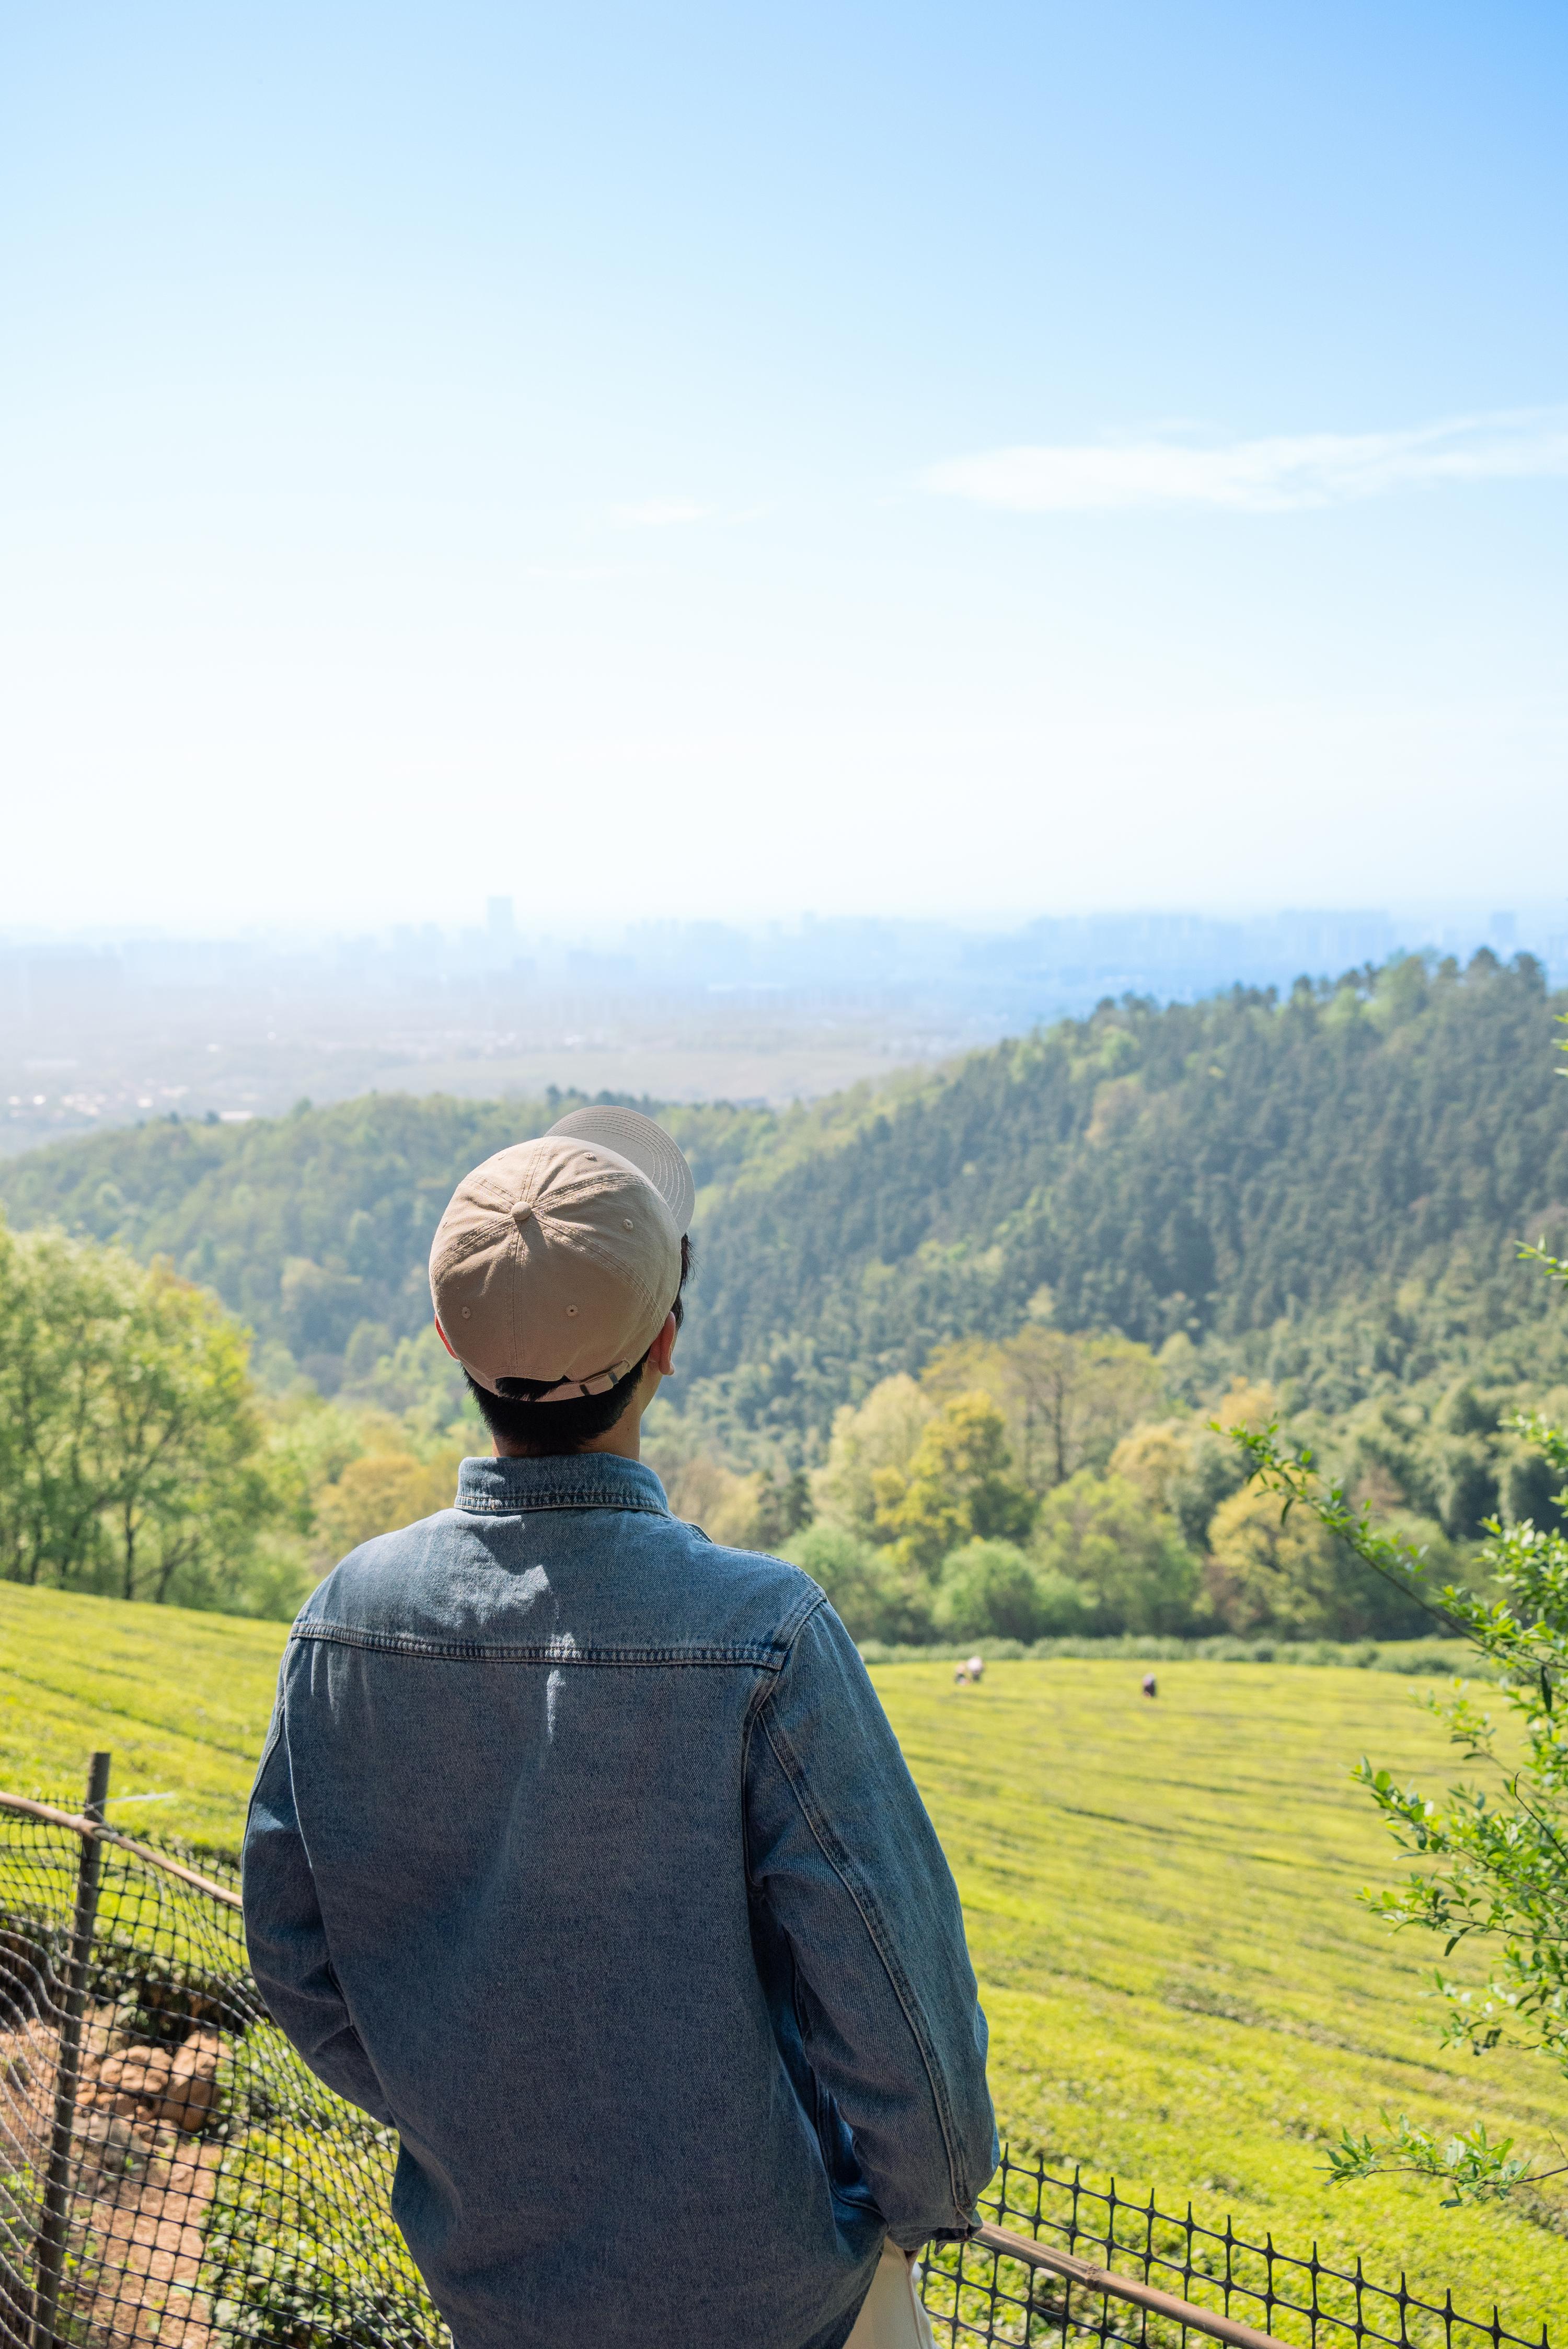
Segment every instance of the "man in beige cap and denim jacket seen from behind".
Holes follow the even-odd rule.
[[[638,1461],[692,1179],[587,1109],[430,1254],[495,1456],[343,1560],[244,1842],[256,1980],[401,2154],[458,2349],[918,2349],[911,2262],[995,2166],[937,1835],[796,1567]]]

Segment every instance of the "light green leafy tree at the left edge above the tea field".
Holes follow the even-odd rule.
[[[0,1224],[0,1571],[216,1604],[286,1513],[246,1334],[167,1264]]]

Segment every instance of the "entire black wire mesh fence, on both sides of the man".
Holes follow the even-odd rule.
[[[0,2349],[451,2349],[397,2138],[268,2020],[237,1872],[103,1830],[103,1795],[94,1757],[82,1813],[0,1797]],[[1552,2349],[1042,2163],[984,2215],[922,2271],[941,2349]]]

